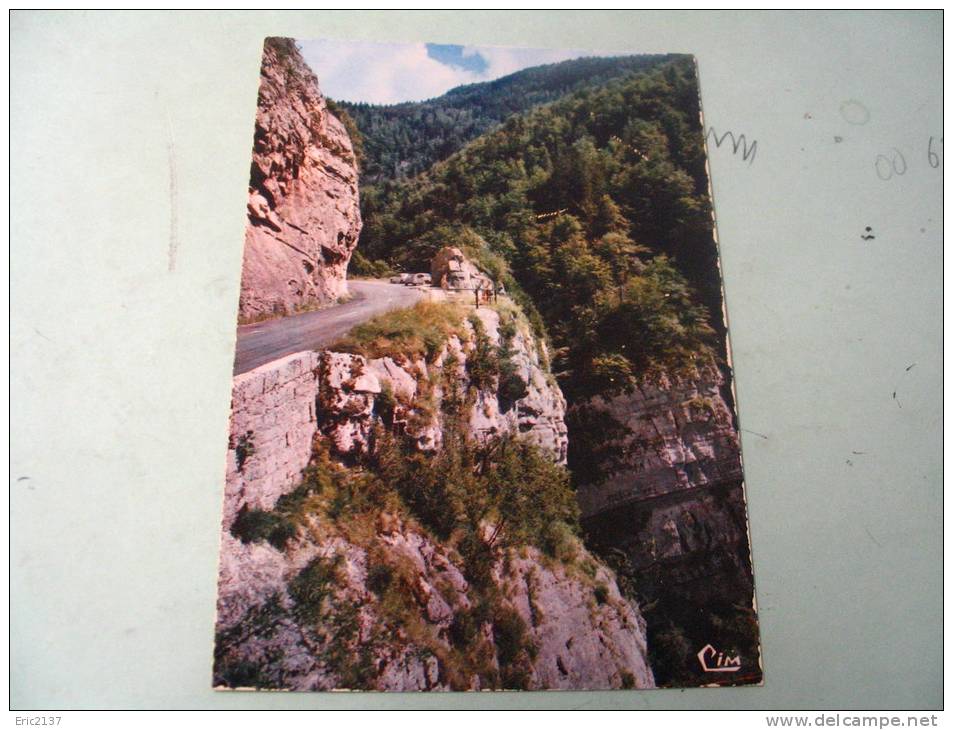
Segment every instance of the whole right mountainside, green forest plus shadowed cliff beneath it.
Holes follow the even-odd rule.
[[[721,680],[758,681],[692,59],[509,116],[414,178],[366,185],[362,212],[364,259],[427,270],[459,246],[551,339],[587,544],[647,607],[656,681],[712,681],[696,654],[716,639],[742,657]]]

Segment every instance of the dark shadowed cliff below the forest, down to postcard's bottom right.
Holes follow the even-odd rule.
[[[603,452],[616,457],[604,480],[579,488],[583,527],[587,545],[651,607],[662,685],[710,683],[695,652],[716,638],[742,662],[720,683],[761,677],[741,454],[724,385],[708,362],[570,412],[573,434],[603,434]]]

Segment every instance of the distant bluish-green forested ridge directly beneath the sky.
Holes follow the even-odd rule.
[[[514,114],[671,58],[581,58],[460,86],[420,103],[379,106],[337,102],[335,107],[344,110],[361,130],[362,182],[377,183],[427,170]]]

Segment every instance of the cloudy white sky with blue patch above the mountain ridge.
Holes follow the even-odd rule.
[[[373,104],[430,99],[462,84],[592,55],[578,50],[437,43],[299,40],[298,45],[325,96]]]

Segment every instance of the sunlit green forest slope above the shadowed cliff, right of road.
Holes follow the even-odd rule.
[[[570,401],[689,367],[721,292],[695,69],[671,60],[509,117],[362,191],[362,257],[427,270],[459,245],[535,310]]]

